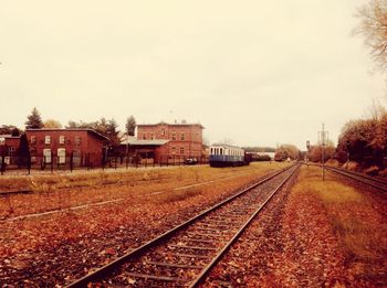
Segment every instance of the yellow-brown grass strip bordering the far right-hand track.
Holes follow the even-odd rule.
[[[364,276],[383,271],[387,225],[372,199],[333,175],[323,182],[321,171],[315,167],[303,168],[300,180],[293,192],[313,194],[321,201],[354,273]]]

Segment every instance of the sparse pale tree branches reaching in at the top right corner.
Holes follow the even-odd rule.
[[[358,10],[362,22],[356,30],[366,36],[366,45],[383,71],[387,68],[387,0],[370,0]]]

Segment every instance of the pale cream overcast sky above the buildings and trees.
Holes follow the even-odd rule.
[[[0,125],[186,119],[210,142],[335,142],[385,81],[352,32],[360,0],[1,0]]]

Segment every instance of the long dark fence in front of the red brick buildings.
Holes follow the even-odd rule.
[[[10,157],[0,156],[1,175],[10,172],[31,174],[33,171],[74,171],[91,169],[118,169],[118,168],[147,168],[147,167],[168,167],[184,164],[206,164],[207,157],[159,157],[140,158],[138,156],[109,156],[85,153],[70,156],[31,156],[31,157]]]

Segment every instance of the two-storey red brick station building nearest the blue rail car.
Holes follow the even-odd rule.
[[[196,158],[202,156],[202,129],[200,124],[149,124],[137,125],[138,140],[168,140],[157,148],[155,161],[163,162],[167,158]]]

